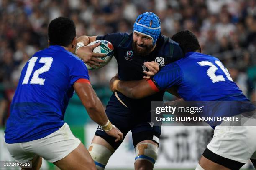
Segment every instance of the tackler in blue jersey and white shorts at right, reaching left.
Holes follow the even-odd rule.
[[[110,81],[111,90],[130,98],[143,98],[166,90],[185,101],[241,101],[249,106],[244,109],[255,112],[255,106],[233,82],[220,60],[201,53],[192,32],[178,32],[172,39],[179,43],[184,58],[166,65],[148,80],[122,81],[115,76]],[[240,110],[227,114],[233,116],[238,112]],[[256,166],[255,132],[256,126],[216,126],[196,170],[238,170],[250,158]]]

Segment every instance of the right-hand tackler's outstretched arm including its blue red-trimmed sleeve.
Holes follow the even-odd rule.
[[[112,91],[117,90],[123,95],[134,99],[153,95],[159,92],[160,89],[179,97],[177,85],[181,83],[182,76],[179,66],[171,63],[154,75],[152,79],[148,80],[120,81],[118,76],[115,76],[110,80],[110,89]]]

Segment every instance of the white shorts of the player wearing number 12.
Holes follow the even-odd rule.
[[[23,143],[5,143],[10,155],[16,162],[27,162],[36,155],[53,163],[61,160],[71,153],[80,144],[67,123],[50,135],[29,142]]]

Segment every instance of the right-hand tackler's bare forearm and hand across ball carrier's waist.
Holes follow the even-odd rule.
[[[129,98],[140,99],[159,92],[158,89],[152,88],[148,81],[151,80],[121,81],[116,75],[110,80],[110,89],[111,91],[119,91]]]

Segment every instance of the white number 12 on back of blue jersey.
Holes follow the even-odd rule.
[[[35,67],[37,59],[38,59],[38,57],[32,57],[30,60],[28,60],[28,68],[27,68],[24,80],[22,82],[23,85],[28,84],[29,77],[33,71],[33,68]],[[48,58],[41,57],[38,62],[45,63],[45,64],[43,67],[34,71],[34,74],[31,78],[29,84],[44,85],[45,79],[39,78],[39,75],[50,70],[52,61],[53,61],[53,58],[51,58],[51,57],[48,57]]]

